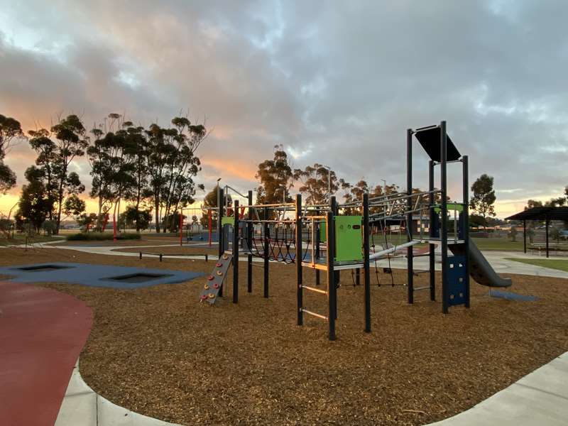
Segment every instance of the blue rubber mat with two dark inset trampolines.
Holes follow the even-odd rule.
[[[11,275],[18,283],[70,283],[109,288],[141,288],[158,284],[183,283],[205,275],[168,269],[89,265],[88,263],[37,263],[0,268],[1,275]]]

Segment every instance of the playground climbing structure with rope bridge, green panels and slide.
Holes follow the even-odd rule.
[[[281,204],[253,204],[252,191],[246,197],[247,205],[241,207],[234,200],[232,216],[224,189],[218,190],[219,263],[204,285],[200,300],[214,304],[223,295],[223,282],[233,266],[232,301],[239,301],[239,255],[247,256],[247,291],[252,291],[252,258],[263,258],[263,293],[269,295],[269,265],[271,261],[294,263],[297,276],[297,324],[302,325],[304,314],[325,320],[330,340],[336,338],[337,289],[340,272],[355,271],[359,282],[361,270],[364,276],[364,331],[371,332],[371,283],[370,263],[379,259],[402,256],[407,259],[407,299],[414,302],[415,292],[430,290],[430,300],[436,300],[435,247],[440,246],[442,259],[442,312],[449,307],[470,306],[470,275],[481,285],[508,287],[510,280],[499,277],[479,249],[469,239],[469,180],[468,157],[461,155],[451,138],[447,136],[446,122],[439,125],[408,129],[407,187],[405,192],[393,192],[378,197],[364,194],[361,200],[339,204],[330,197],[329,204],[302,206],[301,195],[294,202]],[[425,192],[413,192],[413,142],[414,138],[430,157],[428,182]],[[447,197],[447,166],[461,163],[463,197],[460,202],[449,202]],[[439,189],[435,189],[435,167],[439,166]],[[244,216],[247,211],[246,217]],[[354,212],[359,214],[353,214]],[[450,222],[449,212],[453,212]],[[413,230],[417,217],[420,226]],[[428,231],[422,221],[427,219]],[[406,241],[380,251],[371,245],[373,228],[386,230],[392,224],[405,230]],[[453,226],[449,226],[452,223]],[[414,253],[414,246],[427,244],[428,250]],[[371,253],[371,248],[373,253]],[[452,255],[450,255],[452,252]],[[414,257],[428,256],[425,271],[415,271]],[[306,285],[302,268],[315,270],[315,285]],[[327,275],[327,286],[320,286],[320,273]],[[415,288],[417,273],[429,274],[429,285]],[[327,315],[313,312],[304,304],[304,290],[327,297]]]

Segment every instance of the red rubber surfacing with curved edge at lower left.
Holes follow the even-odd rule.
[[[92,327],[75,297],[0,281],[0,422],[53,425]]]

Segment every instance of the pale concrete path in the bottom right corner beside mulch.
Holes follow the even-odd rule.
[[[436,426],[568,424],[568,352]]]

